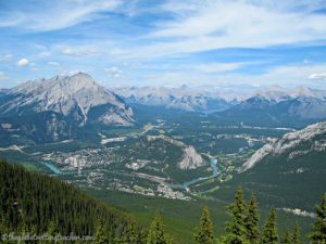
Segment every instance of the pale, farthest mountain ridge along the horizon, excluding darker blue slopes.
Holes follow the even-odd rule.
[[[306,87],[285,89],[279,86],[272,86],[251,93],[241,93],[239,91],[236,92],[212,86],[198,88],[187,86],[179,88],[122,87],[114,88],[114,91],[128,103],[197,112],[228,111],[233,110],[237,104],[242,106],[243,104],[250,104],[251,101],[254,100],[265,101],[268,105],[285,101],[294,101],[299,98],[326,101],[326,91]],[[324,111],[322,113],[324,113]]]

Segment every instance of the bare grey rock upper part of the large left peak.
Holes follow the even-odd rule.
[[[98,123],[122,126],[134,123],[131,108],[85,73],[28,81],[10,89],[5,97],[8,99],[4,98],[4,102],[0,103],[1,116],[22,116],[50,111],[68,117],[83,127],[90,119],[89,113],[102,106],[102,110],[98,108],[96,113]]]

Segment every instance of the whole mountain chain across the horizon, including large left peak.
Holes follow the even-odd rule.
[[[137,105],[142,111],[134,114],[131,107]],[[0,90],[0,137],[9,145],[93,137],[101,128],[137,125],[141,116],[149,116],[150,106],[211,113],[216,123],[302,128],[326,118],[326,91],[274,86],[242,94],[183,86],[112,92],[88,74],[77,73]]]

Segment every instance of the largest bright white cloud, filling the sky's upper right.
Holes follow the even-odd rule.
[[[304,4],[303,4],[304,3]],[[222,48],[264,48],[325,40],[326,15],[312,12],[309,1],[187,1],[170,2],[175,18],[155,23],[142,47],[126,56],[159,57]]]

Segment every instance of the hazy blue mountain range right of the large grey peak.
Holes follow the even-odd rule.
[[[114,91],[129,104],[209,113],[223,124],[303,128],[326,118],[326,91],[308,87],[272,86],[250,93],[187,86],[125,87]]]

